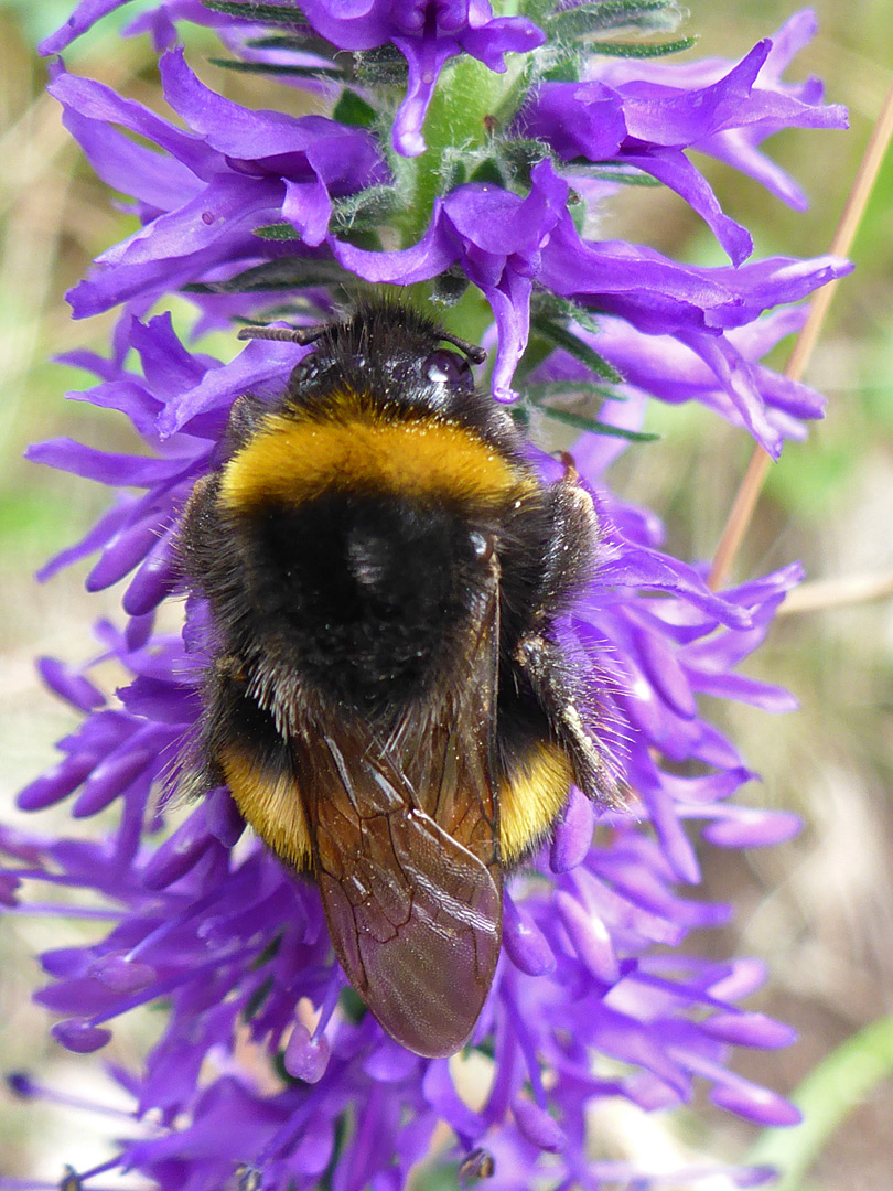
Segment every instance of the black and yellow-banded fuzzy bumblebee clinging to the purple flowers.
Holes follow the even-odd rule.
[[[475,388],[485,354],[414,310],[267,337],[312,350],[280,400],[235,403],[183,515],[213,637],[191,787],[230,787],[317,881],[383,1028],[449,1055],[493,980],[505,872],[572,784],[618,800],[555,634],[595,567],[593,501],[570,466],[543,482]]]

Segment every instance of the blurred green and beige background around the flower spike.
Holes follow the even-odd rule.
[[[74,347],[105,350],[112,316],[69,318],[63,294],[90,258],[131,230],[130,217],[62,129],[56,104],[43,95],[45,67],[36,42],[70,11],[69,0],[0,2],[0,799],[52,761],[52,742],[73,727],[67,711],[37,686],[35,654],[70,661],[89,655],[89,624],[114,613],[117,593],[88,597],[86,566],[38,587],[32,572],[81,536],[108,494],[75,478],[21,460],[25,445],[74,435],[114,449],[130,443],[117,414],[64,401],[87,385],[83,373],[56,366]],[[117,29],[138,6],[106,19],[65,55],[69,69],[113,85],[163,110],[155,57],[146,38],[119,40]],[[720,167],[707,173],[724,208],[754,233],[757,255],[824,252],[831,241],[893,69],[888,0],[816,5],[820,31],[788,77],[818,74],[828,98],[850,110],[851,130],[791,131],[770,152],[811,195],[806,214],[788,211],[756,183]],[[778,0],[694,0],[686,31],[700,35],[691,56],[738,58],[795,8]],[[192,60],[213,52],[208,35],[189,31]],[[252,106],[271,106],[267,85],[202,66],[205,81]],[[810,441],[791,444],[773,468],[736,578],[800,559],[811,580],[878,579],[893,586],[893,155],[888,155],[853,256],[855,275],[839,287],[807,380],[828,397],[828,418]],[[650,243],[668,255],[719,263],[710,233],[675,195],[647,191],[607,213],[606,236]],[[783,366],[789,344],[782,345]],[[235,345],[233,349],[235,351]],[[707,559],[750,454],[750,444],[698,409],[654,406],[649,429],[662,442],[630,450],[613,476],[627,499],[655,509],[668,545],[686,559]],[[889,596],[824,606],[779,618],[748,672],[791,688],[793,716],[769,718],[745,707],[717,707],[749,763],[763,775],[743,797],[795,809],[800,837],[747,855],[705,856],[705,896],[735,900],[733,925],[693,941],[717,955],[750,954],[772,969],[755,1008],[793,1023],[800,1042],[775,1054],[742,1054],[738,1071],[791,1093],[844,1040],[893,1009],[893,604]],[[10,811],[10,813],[13,813]],[[24,817],[19,817],[24,825]],[[29,824],[40,827],[35,822]],[[89,827],[87,828],[89,830]],[[0,936],[0,1067],[43,1068],[81,1090],[101,1083],[98,1065],[71,1060],[48,1041],[45,1015],[29,1004],[38,980],[31,955],[70,943],[77,924],[15,918]],[[87,929],[87,928],[83,928]],[[138,1061],[145,1022],[119,1030],[117,1056]],[[806,1180],[813,1191],[889,1191],[893,1170],[893,1083],[869,1078],[869,1059],[885,1070],[889,1029],[870,1035],[856,1068],[866,1085],[860,1103],[833,1129]],[[885,1050],[886,1047],[886,1050]],[[861,1065],[860,1065],[861,1064]],[[88,1070],[89,1068],[89,1070]],[[889,1061],[887,1060],[887,1067]],[[848,1068],[853,1078],[853,1067]],[[873,1068],[872,1068],[873,1070]],[[90,1073],[90,1071],[93,1073]],[[844,1077],[830,1084],[841,1089]],[[108,1098],[102,1085],[100,1095]],[[698,1109],[702,1108],[701,1105]],[[842,1115],[842,1114],[838,1114]],[[832,1123],[837,1116],[832,1112]],[[73,1123],[74,1122],[74,1123]],[[96,1137],[113,1129],[65,1114],[37,1114],[0,1099],[0,1174],[61,1177],[62,1164],[100,1155]],[[754,1130],[719,1114],[693,1111],[649,1124],[619,1117],[652,1154],[677,1152],[739,1158]],[[670,1160],[668,1158],[668,1161]]]

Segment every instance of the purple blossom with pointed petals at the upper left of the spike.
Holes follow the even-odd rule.
[[[319,116],[251,112],[200,83],[181,50],[164,55],[161,75],[188,132],[88,79],[57,71],[50,83],[96,173],[133,195],[144,224],[98,257],[93,275],[71,292],[77,317],[127,299],[145,306],[221,264],[255,263],[261,242],[252,231],[262,224],[283,220],[314,248],[326,236],[332,198],[386,176],[364,130]]]

